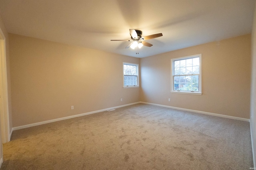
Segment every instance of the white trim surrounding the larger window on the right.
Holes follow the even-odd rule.
[[[174,90],[174,61],[176,60],[182,60],[182,59],[191,59],[194,57],[199,57],[199,70],[200,70],[200,74],[199,74],[199,91],[198,92],[188,92],[188,91],[178,91],[178,90]],[[190,56],[186,56],[186,57],[179,57],[179,58],[175,58],[175,59],[171,59],[171,93],[176,93],[176,94],[194,94],[194,95],[202,95],[202,54],[197,54],[197,55],[190,55]]]

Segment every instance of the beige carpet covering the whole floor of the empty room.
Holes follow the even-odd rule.
[[[248,170],[249,122],[136,104],[14,131],[1,170]]]

